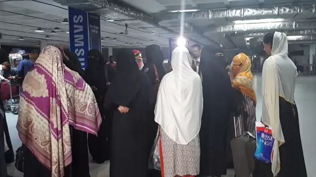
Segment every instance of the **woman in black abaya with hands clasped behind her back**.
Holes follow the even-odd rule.
[[[123,50],[117,56],[117,75],[104,106],[114,111],[110,177],[148,177],[148,158],[154,140],[151,84],[138,70],[134,55]]]

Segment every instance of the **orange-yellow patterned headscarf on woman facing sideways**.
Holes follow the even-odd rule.
[[[240,66],[240,71],[235,77],[231,75],[232,86],[249,96],[256,103],[256,93],[252,87],[251,61],[249,57],[244,53],[239,53],[234,57],[233,65]],[[234,67],[232,67],[232,70],[234,70]]]

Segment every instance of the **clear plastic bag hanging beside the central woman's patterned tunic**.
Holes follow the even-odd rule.
[[[160,127],[155,138],[154,145],[150,151],[148,168],[151,170],[160,170],[160,154],[159,154]]]

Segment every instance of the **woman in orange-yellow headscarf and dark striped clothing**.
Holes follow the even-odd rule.
[[[239,53],[234,57],[231,80],[234,88],[235,137],[238,137],[245,131],[254,132],[256,122],[256,94],[252,86],[251,61],[246,54]]]

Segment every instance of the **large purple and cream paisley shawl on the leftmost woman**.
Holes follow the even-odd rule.
[[[17,129],[21,141],[51,170],[63,177],[71,164],[69,125],[97,135],[101,115],[91,88],[47,46],[26,75],[20,95]]]

